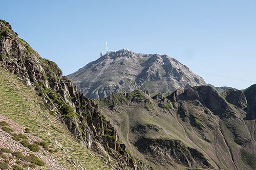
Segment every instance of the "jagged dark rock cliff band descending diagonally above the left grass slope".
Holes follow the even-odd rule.
[[[41,58],[4,20],[0,20],[0,53],[1,68],[33,88],[81,145],[102,155],[113,169],[150,168],[126,152],[98,105],[80,94],[54,62]]]

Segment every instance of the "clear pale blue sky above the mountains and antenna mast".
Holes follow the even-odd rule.
[[[215,86],[256,84],[255,0],[8,0],[0,7],[0,18],[63,75],[99,58],[107,39],[110,50],[167,54]]]

